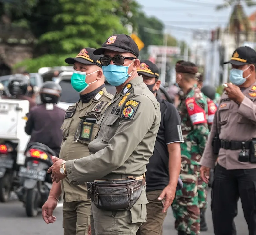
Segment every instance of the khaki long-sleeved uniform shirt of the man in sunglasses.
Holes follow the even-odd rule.
[[[132,79],[116,94],[101,118],[97,138],[89,144],[90,156],[65,163],[71,184],[97,179],[138,177],[146,172],[161,120],[160,104],[143,82]],[[142,194],[137,204],[147,203]]]

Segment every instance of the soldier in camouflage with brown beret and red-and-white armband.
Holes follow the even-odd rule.
[[[176,83],[183,90],[178,110],[182,121],[185,143],[181,145],[184,172],[180,175],[183,189],[177,191],[172,208],[178,235],[200,233],[200,209],[205,205],[206,193],[200,184],[200,159],[205,148],[209,129],[207,102],[197,87],[195,64],[179,61],[176,64]]]

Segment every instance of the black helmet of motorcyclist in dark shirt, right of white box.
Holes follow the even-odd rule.
[[[61,86],[53,81],[44,82],[40,89],[40,97],[43,103],[58,103],[61,97]]]

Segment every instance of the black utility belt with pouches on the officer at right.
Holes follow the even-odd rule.
[[[256,163],[256,138],[253,138],[251,141],[220,140],[220,147],[223,149],[241,150],[238,157],[239,162]]]

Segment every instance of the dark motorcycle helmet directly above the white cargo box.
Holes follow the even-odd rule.
[[[11,95],[25,95],[29,85],[30,82],[26,76],[23,74],[14,74],[10,77],[8,90]]]

